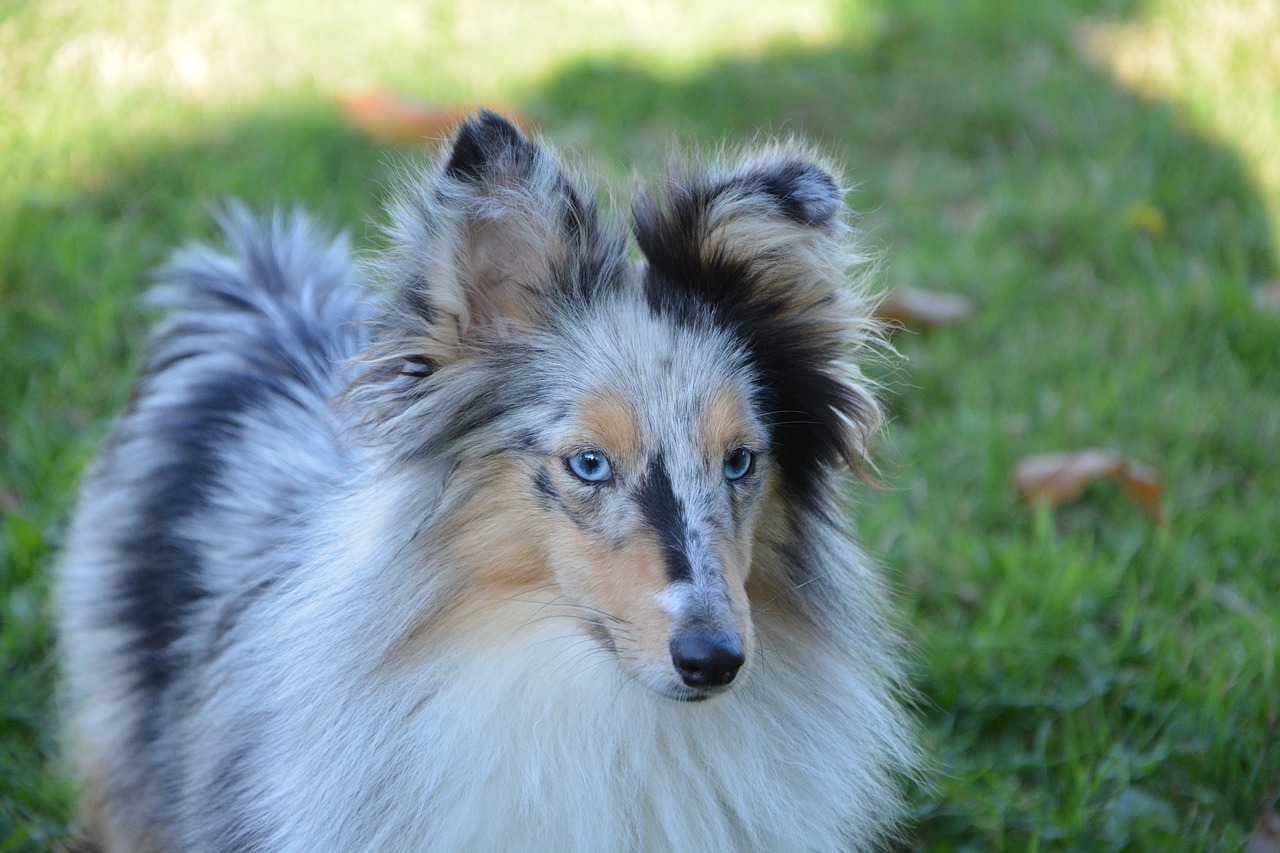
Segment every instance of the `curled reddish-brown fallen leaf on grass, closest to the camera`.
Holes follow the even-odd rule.
[[[1130,498],[1157,521],[1164,519],[1164,483],[1153,469],[1112,450],[1091,447],[1037,453],[1014,467],[1014,488],[1030,503],[1062,506],[1101,479],[1119,480]]]

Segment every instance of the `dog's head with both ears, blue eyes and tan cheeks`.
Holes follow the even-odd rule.
[[[634,232],[639,261],[543,147],[467,120],[393,210],[362,398],[442,480],[424,548],[701,699],[750,666],[753,607],[806,581],[797,514],[863,460],[873,324],[838,184],[794,149],[668,175]]]

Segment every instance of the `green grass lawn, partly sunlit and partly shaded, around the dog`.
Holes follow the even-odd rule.
[[[370,245],[403,155],[342,122],[366,88],[515,104],[620,195],[673,138],[841,158],[884,284],[979,306],[899,337],[858,496],[937,756],[914,845],[1244,848],[1280,793],[1272,5],[0,5],[0,850],[67,831],[49,567],[146,270],[225,196]],[[1110,484],[1018,501],[1018,459],[1088,446],[1161,471],[1162,524]]]

